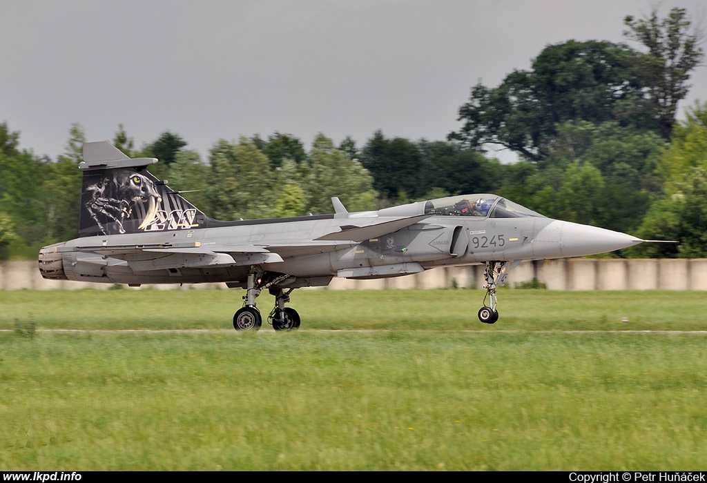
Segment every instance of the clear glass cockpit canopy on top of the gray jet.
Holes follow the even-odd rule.
[[[543,217],[540,213],[498,195],[480,193],[447,196],[425,202],[425,214],[489,218]]]

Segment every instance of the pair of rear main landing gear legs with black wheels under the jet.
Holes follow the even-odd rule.
[[[248,275],[247,291],[243,297],[243,308],[238,309],[233,315],[233,328],[235,330],[259,330],[262,326],[262,316],[255,307],[255,299],[262,290],[268,289],[275,297],[275,308],[268,316],[268,323],[271,323],[275,330],[293,330],[300,326],[300,316],[295,309],[286,307],[290,302],[290,294],[294,289],[287,291],[277,286],[280,282],[288,278],[286,274],[276,273],[256,273]]]

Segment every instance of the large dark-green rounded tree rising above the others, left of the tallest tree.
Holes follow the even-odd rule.
[[[624,44],[594,40],[545,47],[530,71],[513,71],[497,88],[475,85],[459,110],[464,126],[450,139],[477,150],[501,145],[528,160],[544,160],[556,124],[617,120],[617,103],[641,90],[630,68],[637,56]]]

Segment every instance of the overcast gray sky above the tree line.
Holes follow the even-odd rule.
[[[317,132],[358,145],[444,139],[481,80],[496,86],[548,44],[621,42],[646,0],[4,0],[0,121],[55,158],[123,124],[136,147],[166,130],[202,157],[219,138]],[[696,20],[703,0],[662,2]],[[636,44],[632,44],[637,47]],[[703,48],[706,47],[703,45]],[[707,67],[684,105],[707,100]]]

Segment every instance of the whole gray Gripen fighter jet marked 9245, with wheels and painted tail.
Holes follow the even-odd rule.
[[[223,222],[107,141],[83,145],[79,238],[46,246],[44,278],[138,286],[226,282],[246,290],[233,316],[237,330],[258,330],[255,299],[275,297],[275,330],[300,326],[291,307],[298,287],[334,277],[370,279],[429,268],[484,264],[486,296],[479,320],[495,323],[496,287],[522,260],[585,256],[644,240],[608,229],[552,220],[492,194],[449,196],[377,211]]]

